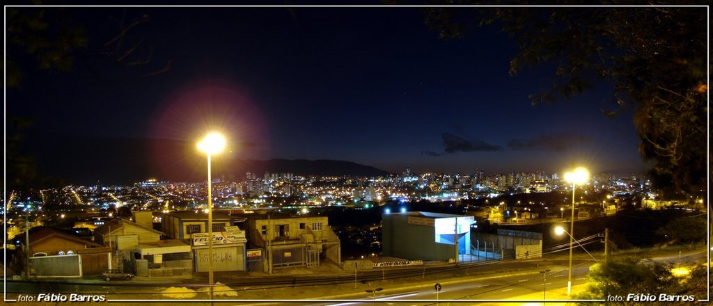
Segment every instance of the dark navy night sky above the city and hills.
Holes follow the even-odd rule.
[[[338,159],[390,172],[644,169],[631,114],[601,115],[610,88],[531,105],[550,74],[509,75],[517,49],[495,28],[443,40],[408,8],[46,10],[85,28],[88,47],[71,72],[10,53],[24,78],[7,91],[7,116],[32,118],[44,137],[193,143],[222,130],[226,154],[242,159]],[[143,17],[118,48],[108,43],[122,19]],[[63,151],[30,154],[73,162]]]

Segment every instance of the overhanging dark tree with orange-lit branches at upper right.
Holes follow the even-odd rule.
[[[446,7],[424,11],[426,23],[442,38],[463,36],[471,26],[495,26],[507,33],[519,47],[511,60],[512,75],[543,63],[548,64],[543,67],[553,67],[551,88],[530,95],[533,105],[571,100],[595,83],[612,85],[615,94],[602,113],[614,116],[633,110],[641,138],[639,151],[645,160],[655,162],[650,169],[655,186],[669,196],[703,194],[708,110],[705,7]]]

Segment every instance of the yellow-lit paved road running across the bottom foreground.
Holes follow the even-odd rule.
[[[705,262],[707,252],[699,250],[682,254],[662,255],[652,260],[657,262],[672,263],[693,263]],[[567,287],[567,263],[568,260],[562,258],[555,260],[515,260],[506,262],[496,262],[478,265],[461,265],[456,270],[453,265],[438,267],[423,267],[396,270],[372,270],[369,272],[357,273],[357,282],[354,282],[354,275],[342,273],[339,275],[319,275],[311,277],[302,276],[282,276],[273,278],[245,278],[240,282],[232,279],[225,279],[230,288],[235,288],[240,295],[232,297],[233,300],[250,300],[257,302],[265,299],[293,299],[293,300],[330,300],[334,302],[305,302],[304,305],[357,305],[364,300],[366,303],[374,295],[367,294],[365,290],[383,287],[376,292],[376,302],[381,305],[399,301],[404,305],[435,305],[438,300],[472,301],[476,300],[506,300],[528,295],[530,299],[540,299],[540,293],[544,293],[546,287],[548,300],[557,297],[554,292],[566,291]],[[590,265],[595,263],[593,259],[580,258],[575,260],[573,269],[573,286],[583,285],[585,276]],[[464,269],[465,267],[467,269]],[[547,279],[544,281],[543,274],[539,270],[547,270]],[[483,275],[483,272],[490,270],[490,275]],[[454,275],[459,275],[454,278]],[[382,280],[385,279],[385,280]],[[430,280],[430,281],[429,281]],[[184,282],[174,281],[169,284],[142,283],[141,281],[116,281],[104,282],[103,280],[83,280],[89,283],[52,283],[52,282],[14,282],[7,283],[10,298],[16,297],[15,293],[41,292],[81,292],[106,294],[111,300],[115,299],[165,299],[170,300],[170,295],[158,295],[158,292],[167,287],[188,287],[198,291],[196,299],[205,299],[200,293],[205,288],[205,283],[195,283],[195,279],[189,278]],[[178,280],[180,281],[180,280]],[[235,282],[234,282],[235,281]],[[76,282],[76,280],[73,280]],[[434,285],[440,283],[442,290],[436,296]],[[252,287],[252,289],[247,288]],[[228,290],[230,290],[228,288]],[[246,291],[247,290],[247,291]],[[262,295],[261,295],[262,294]],[[219,297],[229,298],[230,297]],[[352,302],[338,302],[349,300]],[[260,303],[265,304],[265,303]],[[302,303],[292,303],[300,305]],[[364,304],[363,302],[361,304]],[[230,302],[225,305],[231,305]],[[245,302],[237,302],[235,305],[245,305]],[[366,305],[366,304],[364,304]]]

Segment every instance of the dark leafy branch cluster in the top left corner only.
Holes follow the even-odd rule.
[[[76,72],[82,67],[92,76],[91,80],[103,85],[170,70],[172,60],[154,60],[153,46],[145,43],[147,39],[140,26],[150,21],[147,14],[133,9],[116,10],[106,21],[87,23],[76,12],[77,9],[62,7],[7,8],[9,88],[23,87],[24,76],[32,70],[62,73]],[[88,36],[87,28],[106,24],[116,24],[117,30]]]

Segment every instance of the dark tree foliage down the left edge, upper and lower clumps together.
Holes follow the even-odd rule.
[[[40,4],[41,1],[33,2]],[[116,23],[118,31],[90,39],[85,29],[101,25],[83,24],[71,10],[41,6],[6,8],[7,88],[36,90],[41,84],[32,83],[28,75],[38,71],[60,75],[77,72],[78,67],[82,67],[92,75],[91,82],[111,85],[170,70],[170,59],[155,65],[151,60],[153,48],[135,36],[136,27],[150,20],[147,15],[136,16],[135,11],[125,9],[120,18],[107,20]],[[6,120],[6,187],[10,190],[63,185],[61,179],[41,174],[37,160],[27,154],[32,124],[32,120],[12,115]]]

